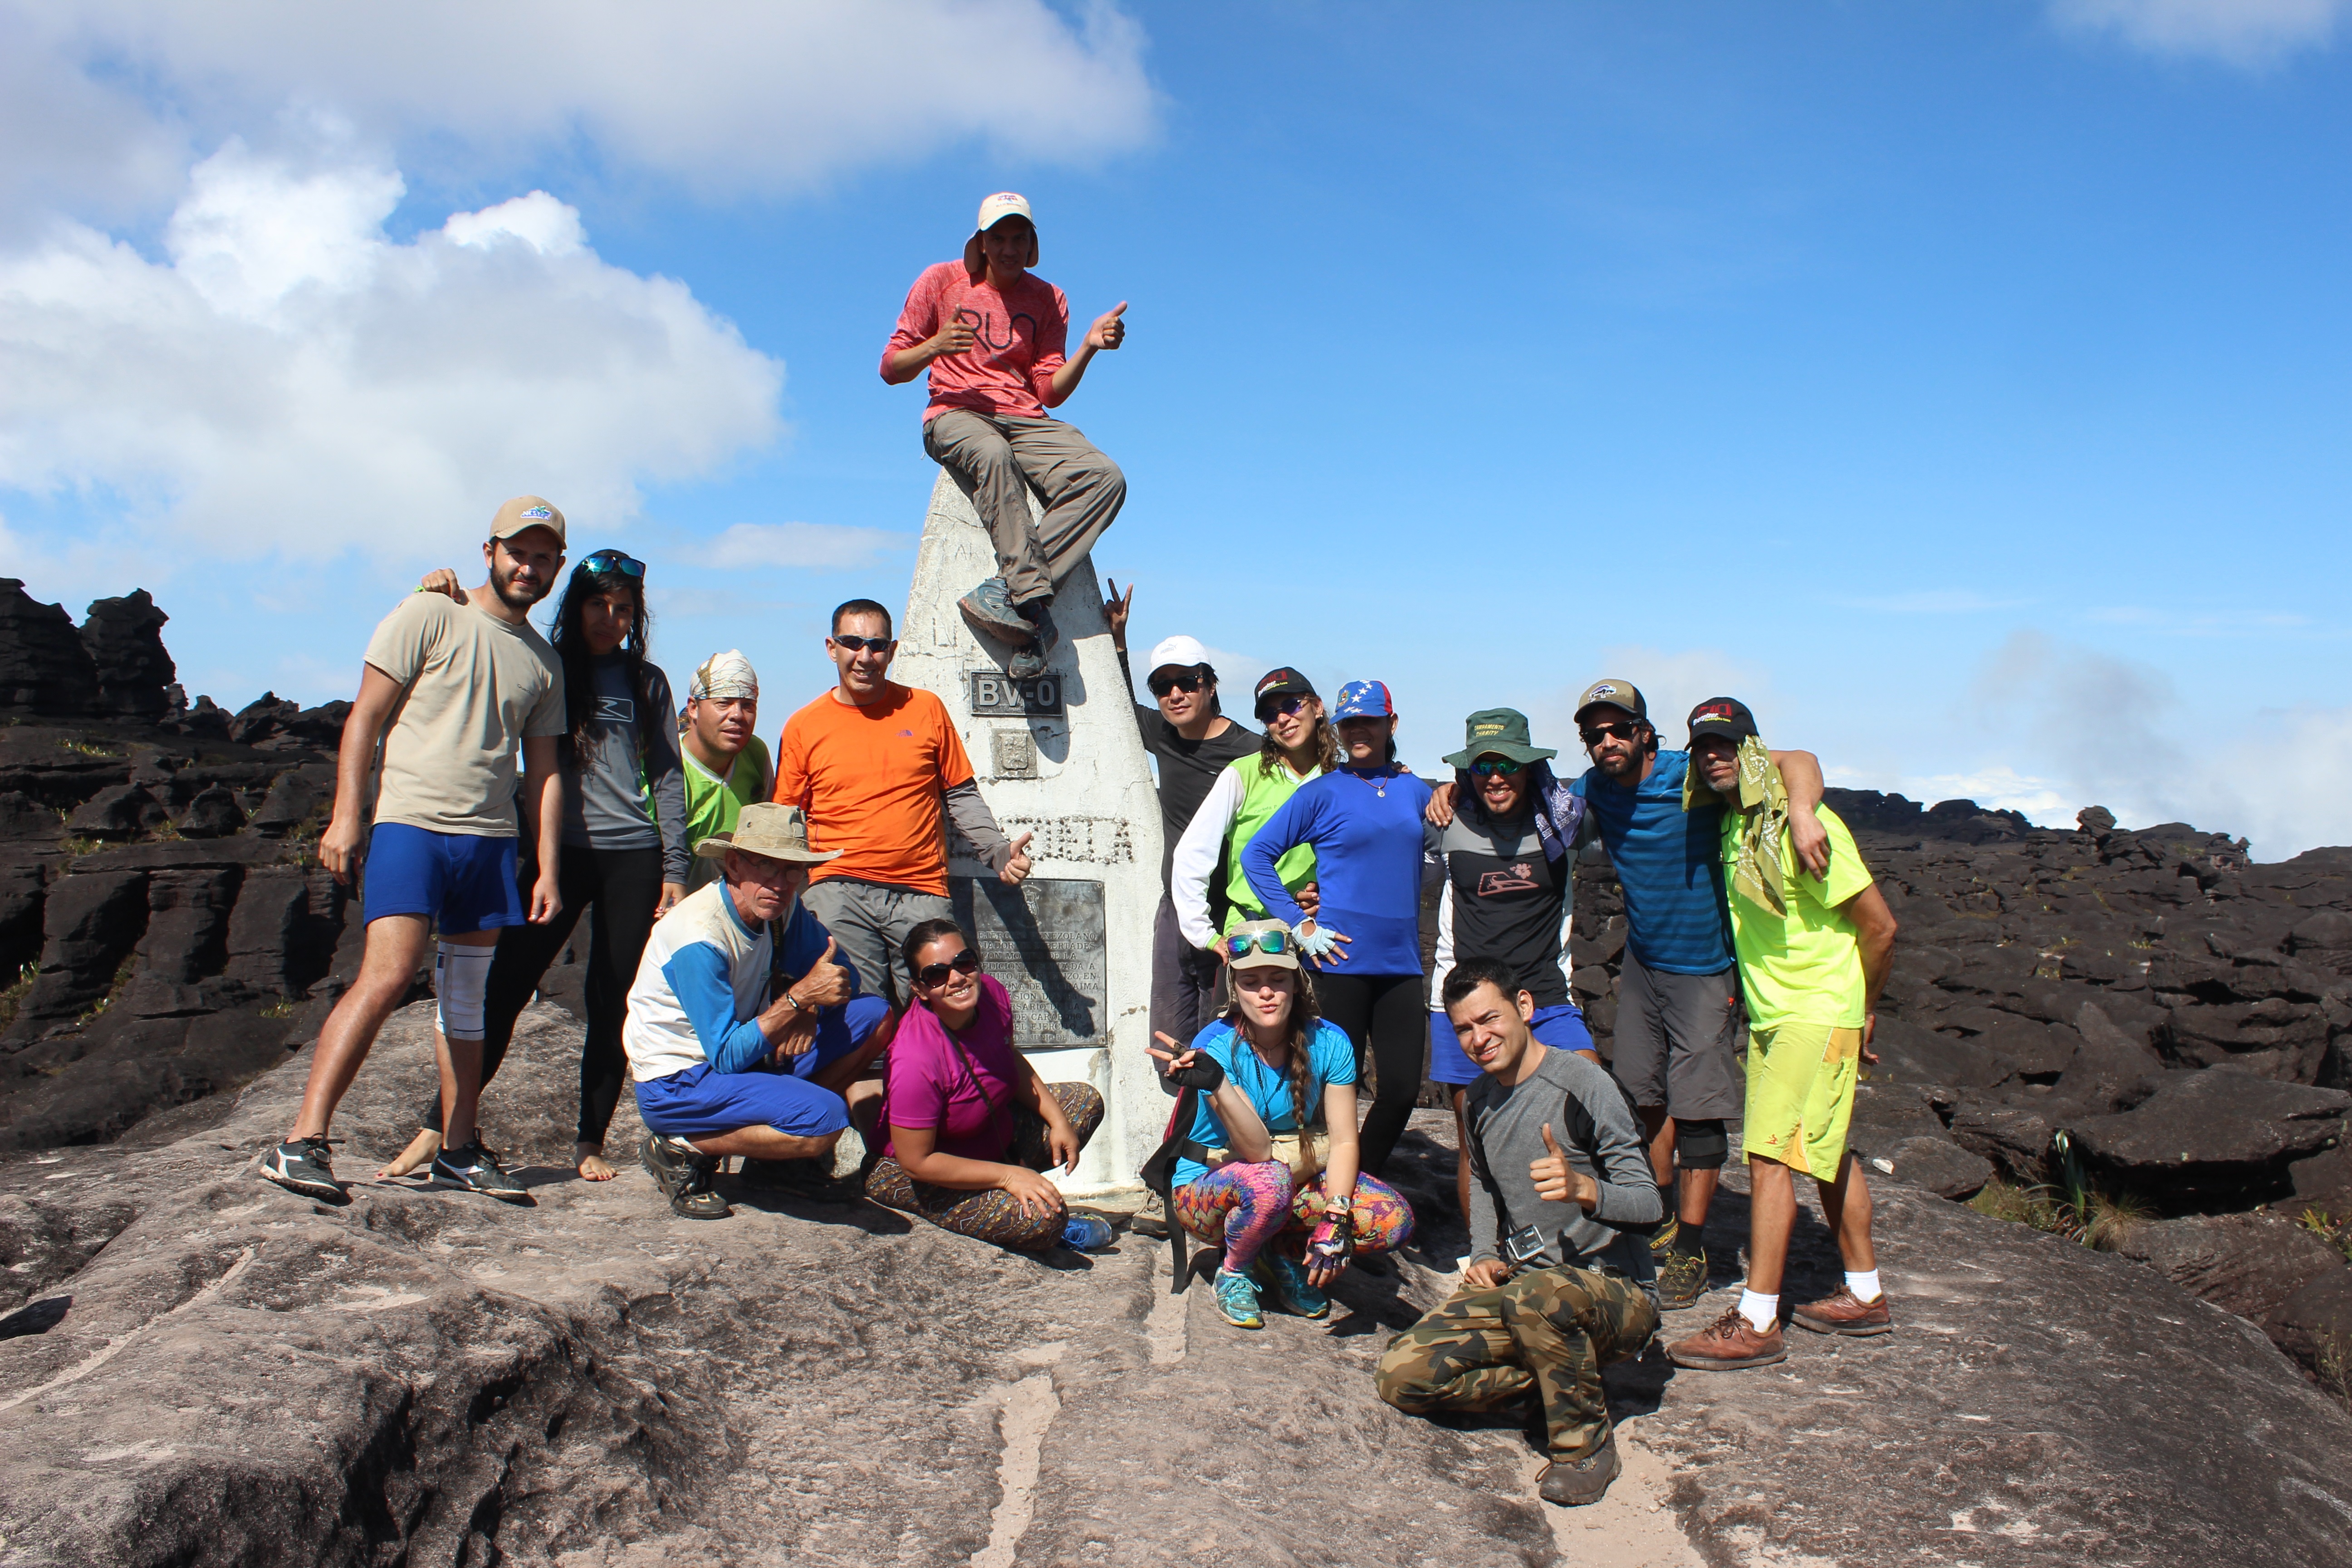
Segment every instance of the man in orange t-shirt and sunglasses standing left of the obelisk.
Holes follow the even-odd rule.
[[[814,849],[840,858],[814,867],[800,903],[877,994],[903,1001],[906,933],[948,907],[948,835],[941,813],[1004,886],[1030,875],[1030,835],[1007,839],[971,780],[971,759],[948,705],[889,679],[898,654],[889,611],[849,599],[833,611],[826,654],[840,684],[795,712],[776,741],[776,802],[809,818]]]

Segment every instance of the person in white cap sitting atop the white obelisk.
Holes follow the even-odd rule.
[[[957,609],[971,630],[1016,649],[1007,668],[1014,679],[1044,675],[1056,642],[1047,616],[1054,588],[1127,501],[1120,465],[1047,416],[1077,390],[1098,350],[1127,341],[1127,301],[1094,317],[1070,355],[1070,301],[1030,275],[1033,266],[1028,197],[990,195],[964,259],[922,270],[882,350],[882,381],[891,386],[931,371],[922,449],[964,487],[997,545],[997,576]],[[1030,520],[1030,487],[1044,501],[1040,522]]]

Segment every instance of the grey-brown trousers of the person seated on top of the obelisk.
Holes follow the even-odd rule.
[[[1051,595],[1127,501],[1120,465],[1058,418],[948,409],[922,428],[922,449],[971,496],[1014,604]],[[1044,501],[1037,522],[1028,512],[1033,484]]]

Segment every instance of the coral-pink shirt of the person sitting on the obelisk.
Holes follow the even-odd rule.
[[[1054,400],[1054,371],[1070,353],[1070,301],[1061,289],[1035,273],[1021,273],[1011,294],[997,294],[985,275],[971,282],[962,261],[927,266],[908,289],[898,329],[882,350],[884,374],[894,353],[922,343],[955,317],[971,324],[976,341],[960,355],[931,360],[931,407],[922,411],[924,423],[946,409],[1044,418]]]

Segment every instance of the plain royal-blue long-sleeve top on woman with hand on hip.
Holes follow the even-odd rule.
[[[1315,926],[1348,938],[1343,959],[1317,969],[1343,976],[1421,973],[1421,811],[1430,785],[1411,771],[1367,778],[1338,769],[1298,785],[1242,849],[1242,872],[1275,919],[1298,926],[1305,912],[1275,875],[1296,844],[1315,846],[1322,905]]]

